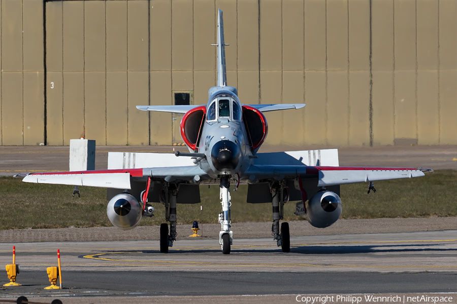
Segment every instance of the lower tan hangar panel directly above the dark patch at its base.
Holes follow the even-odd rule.
[[[405,144],[417,138],[415,78],[414,70],[395,72],[395,137]]]

